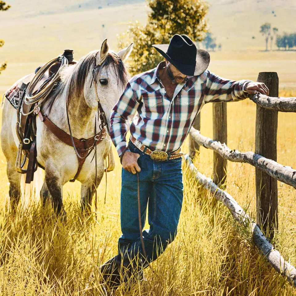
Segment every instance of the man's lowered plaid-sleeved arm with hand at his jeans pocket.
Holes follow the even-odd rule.
[[[141,171],[138,166],[137,153],[130,152],[126,147],[126,133],[130,129],[130,122],[139,106],[139,98],[137,92],[133,90],[130,83],[125,87],[125,90],[119,98],[117,104],[113,108],[113,113],[110,116],[110,137],[116,147],[119,156],[124,153],[121,158],[122,167],[135,174]]]

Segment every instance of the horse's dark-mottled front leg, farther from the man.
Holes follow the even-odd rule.
[[[66,212],[63,206],[63,185],[57,170],[46,163],[45,166],[45,182],[49,194],[51,195],[52,207],[57,216],[62,215],[66,220]]]

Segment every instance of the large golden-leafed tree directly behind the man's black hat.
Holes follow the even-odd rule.
[[[119,48],[134,42],[130,55],[133,75],[152,69],[163,60],[152,44],[168,44],[175,34],[202,41],[207,31],[208,5],[203,0],[149,0],[147,4],[151,9],[147,24],[130,23],[127,32],[118,37]]]

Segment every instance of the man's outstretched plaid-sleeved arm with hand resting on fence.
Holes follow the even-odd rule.
[[[252,80],[227,80],[208,71],[204,101],[208,103],[243,100],[249,94],[257,92],[268,94],[268,88],[264,83],[253,82]]]

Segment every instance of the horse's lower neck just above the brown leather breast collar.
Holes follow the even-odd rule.
[[[56,96],[50,111],[49,104],[45,104],[43,113],[48,112],[46,113],[48,118],[69,134],[66,111],[67,93],[68,90],[65,88]],[[88,139],[94,136],[96,111],[88,107],[83,96],[69,100],[68,115],[73,137]],[[98,126],[97,123],[97,132]]]

